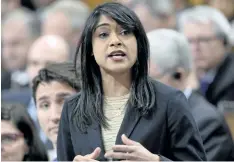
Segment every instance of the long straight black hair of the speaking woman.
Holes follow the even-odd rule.
[[[81,70],[82,89],[72,118],[82,131],[92,122],[108,126],[102,109],[102,76],[92,56],[92,36],[101,15],[111,17],[123,28],[132,31],[137,40],[137,61],[131,71],[132,85],[128,106],[135,107],[141,115],[146,115],[155,103],[154,88],[148,78],[149,44],[140,20],[133,11],[120,3],[104,3],[97,6],[88,17],[75,55],[75,66],[80,62],[81,69],[76,68],[76,71]]]

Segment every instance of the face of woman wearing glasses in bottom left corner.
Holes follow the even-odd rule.
[[[28,146],[22,133],[10,121],[1,120],[2,161],[22,161]]]

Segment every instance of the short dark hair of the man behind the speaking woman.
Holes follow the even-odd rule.
[[[38,85],[42,82],[49,83],[58,81],[74,88],[77,92],[81,89],[80,74],[76,73],[74,63],[53,63],[48,64],[39,71],[39,74],[33,79],[33,98],[36,103],[36,91]]]

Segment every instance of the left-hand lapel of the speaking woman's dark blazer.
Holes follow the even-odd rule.
[[[91,152],[94,151],[97,147],[101,148],[100,156],[97,160],[99,161],[105,161],[105,148],[102,140],[102,134],[101,134],[101,127],[98,123],[93,123],[88,128],[88,138],[89,139],[89,146],[91,147]],[[90,153],[91,153],[90,152]]]

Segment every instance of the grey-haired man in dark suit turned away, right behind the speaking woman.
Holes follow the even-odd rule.
[[[186,38],[168,29],[155,30],[147,36],[151,51],[150,75],[184,92],[201,133],[207,159],[234,160],[234,144],[223,115],[187,85],[193,61]]]

